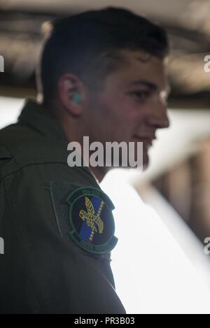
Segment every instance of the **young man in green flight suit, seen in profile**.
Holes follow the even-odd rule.
[[[57,20],[38,66],[41,103],[0,131],[0,313],[125,313],[115,291],[106,166],[70,167],[67,145],[144,142],[169,126],[167,36],[120,8]],[[123,274],[123,273],[122,273]]]

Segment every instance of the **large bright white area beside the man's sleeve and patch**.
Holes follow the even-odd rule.
[[[200,268],[195,269],[158,214],[121,178],[112,171],[101,185],[116,206],[119,241],[111,266],[127,313],[209,314],[210,292]],[[174,227],[183,229],[182,222],[174,220]],[[182,236],[189,240],[192,233],[186,229]],[[202,251],[195,243],[191,252],[196,247]]]

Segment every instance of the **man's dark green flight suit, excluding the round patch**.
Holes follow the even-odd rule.
[[[69,237],[66,196],[97,181],[69,167],[59,122],[27,101],[0,131],[0,313],[125,313],[111,252],[88,252]]]

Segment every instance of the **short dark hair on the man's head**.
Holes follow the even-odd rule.
[[[164,59],[167,33],[158,24],[123,8],[91,10],[50,22],[37,69],[38,89],[48,101],[64,73],[73,73],[92,88],[102,87],[122,66],[120,50],[144,50]]]

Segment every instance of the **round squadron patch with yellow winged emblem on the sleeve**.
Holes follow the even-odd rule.
[[[109,197],[94,187],[80,187],[69,195],[70,236],[81,248],[95,254],[110,252],[118,238]]]

